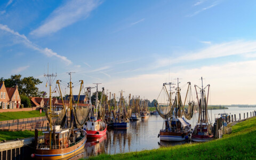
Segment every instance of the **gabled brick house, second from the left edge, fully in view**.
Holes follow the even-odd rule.
[[[10,109],[15,109],[15,108],[20,108],[20,94],[18,90],[18,86],[16,85],[15,87],[6,87],[6,91],[9,96],[9,105]]]

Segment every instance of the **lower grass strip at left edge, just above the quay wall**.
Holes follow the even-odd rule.
[[[39,133],[38,133],[39,134]],[[0,131],[0,141],[34,137],[34,131]]]

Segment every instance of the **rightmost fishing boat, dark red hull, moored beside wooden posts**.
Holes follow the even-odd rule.
[[[203,86],[203,77],[201,77],[202,87],[198,87],[195,85],[195,89],[198,87],[200,89],[200,99],[197,95],[197,101],[199,104],[199,114],[198,114],[198,121],[196,126],[194,127],[194,131],[191,133],[191,140],[195,142],[205,142],[210,141],[213,139],[212,133],[212,125],[209,123],[209,115],[207,111],[207,103],[209,98],[209,89],[210,85]],[[207,96],[205,94],[205,89],[208,87]]]

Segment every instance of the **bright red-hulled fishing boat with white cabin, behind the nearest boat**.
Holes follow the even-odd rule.
[[[96,107],[96,113],[98,114],[98,116],[94,116],[93,114],[94,108],[92,107],[92,102],[91,102],[91,87],[87,88],[87,91],[89,92],[89,99],[90,99],[89,104],[90,104],[90,113],[91,113],[91,116],[90,116],[91,118],[83,126],[83,129],[87,133],[87,138],[101,138],[107,134],[107,124],[103,122],[105,117],[104,115],[105,106],[104,107],[101,106],[103,96],[101,96],[101,100],[99,104],[98,83],[96,83],[96,85],[97,85],[96,86],[97,91],[96,91],[95,107]],[[102,94],[104,94],[104,87],[102,88]]]

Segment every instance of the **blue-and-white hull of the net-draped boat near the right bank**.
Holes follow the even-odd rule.
[[[184,141],[188,138],[188,132],[177,133],[177,132],[160,132],[160,140],[174,142],[174,141]]]

